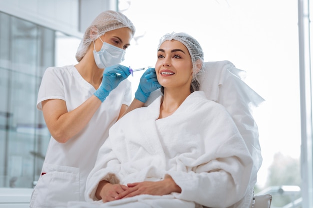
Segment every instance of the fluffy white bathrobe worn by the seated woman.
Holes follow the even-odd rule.
[[[72,208],[247,208],[251,155],[225,108],[191,93],[170,116],[158,119],[160,99],[117,121],[88,176],[85,199]],[[100,181],[160,181],[170,175],[181,193],[139,195],[102,204]],[[245,196],[248,196],[247,198]]]

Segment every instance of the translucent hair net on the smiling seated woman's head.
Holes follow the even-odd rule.
[[[191,56],[191,61],[192,61],[192,70],[193,70],[192,79],[195,80],[196,75],[200,74],[200,72],[202,72],[204,69],[204,64],[203,64],[204,55],[203,55],[202,48],[200,44],[198,43],[198,41],[194,39],[192,36],[184,32],[167,33],[160,38],[157,50],[159,49],[160,45],[166,40],[177,40],[181,42],[182,44],[184,44],[184,46],[186,46],[186,48],[189,51],[189,54]],[[200,61],[199,63],[201,64],[201,68],[197,68],[197,65],[196,65],[197,60]]]

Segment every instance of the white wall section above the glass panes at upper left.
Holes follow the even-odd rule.
[[[0,0],[0,11],[78,38],[101,11],[117,0]]]

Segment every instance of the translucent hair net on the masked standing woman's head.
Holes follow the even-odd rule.
[[[131,30],[132,36],[134,35],[135,27],[124,14],[112,10],[101,12],[86,29],[76,52],[76,60],[79,62],[82,59],[92,41],[107,31],[122,27],[128,27]],[[90,31],[94,31],[97,35],[90,37]]]

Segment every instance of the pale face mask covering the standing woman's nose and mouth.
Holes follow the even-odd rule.
[[[101,40],[101,38],[99,37]],[[93,42],[93,57],[95,64],[100,69],[104,69],[109,66],[113,66],[115,64],[119,64],[124,60],[125,50],[109,43],[103,42],[101,40],[102,47],[99,51],[95,51],[95,46]]]

